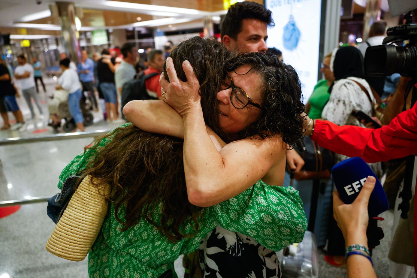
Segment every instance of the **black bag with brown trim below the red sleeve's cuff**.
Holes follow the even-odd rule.
[[[328,180],[334,166],[334,153],[320,147],[316,142],[306,136],[303,138],[305,150],[295,148],[304,159],[303,169],[294,175],[296,180]]]

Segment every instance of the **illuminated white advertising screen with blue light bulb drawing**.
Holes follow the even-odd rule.
[[[281,50],[284,62],[292,65],[301,80],[307,102],[319,74],[319,45],[322,0],[265,0],[275,27],[268,30],[266,44]]]

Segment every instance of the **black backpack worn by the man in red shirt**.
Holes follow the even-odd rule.
[[[145,84],[146,79],[151,78],[157,74],[159,73],[149,73],[148,75],[145,75],[145,73],[142,72],[140,75],[138,75],[137,78],[129,80],[123,84],[121,110],[123,110],[123,107],[126,105],[126,103],[131,100],[157,100],[158,98],[148,94]]]

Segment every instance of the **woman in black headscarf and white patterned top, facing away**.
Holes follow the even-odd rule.
[[[335,80],[329,88],[330,98],[322,112],[323,120],[329,120],[337,125],[364,127],[352,115],[352,112],[361,110],[371,117],[376,100],[369,84],[364,79],[362,54],[353,46],[335,49],[330,60],[330,68],[334,73]],[[363,86],[364,90],[359,84]],[[367,93],[365,90],[367,90]],[[347,158],[346,155],[336,154],[335,162],[338,163]],[[369,166],[377,176],[381,176],[381,163],[370,163]],[[330,226],[328,255],[325,256],[325,260],[335,266],[344,265],[343,235],[337,228],[336,222]]]

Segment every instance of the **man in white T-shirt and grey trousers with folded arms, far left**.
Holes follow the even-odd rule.
[[[20,89],[22,90],[23,97],[28,103],[30,114],[32,119],[35,118],[35,111],[33,110],[32,99],[35,101],[36,106],[39,110],[39,117],[43,118],[42,108],[40,107],[40,102],[38,95],[35,91],[35,78],[33,77],[33,67],[29,63],[26,63],[26,58],[23,55],[18,56],[19,65],[15,68],[15,78],[20,83]]]

